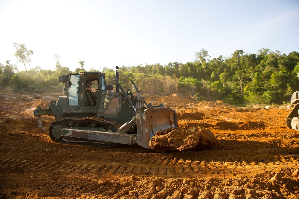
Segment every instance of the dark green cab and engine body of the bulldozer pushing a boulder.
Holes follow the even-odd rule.
[[[114,92],[112,85],[106,85],[104,73],[67,74],[60,76],[59,80],[65,85],[65,96],[60,96],[57,103],[51,105],[56,119],[67,116],[103,117],[126,123],[134,117],[134,110],[127,103],[123,93]],[[90,88],[94,93],[87,96],[85,88],[90,81]]]

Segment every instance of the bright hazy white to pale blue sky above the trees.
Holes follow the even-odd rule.
[[[13,43],[33,50],[31,68],[192,62],[261,48],[299,52],[299,1],[0,0],[0,63],[17,64]],[[29,69],[28,64],[26,65]]]

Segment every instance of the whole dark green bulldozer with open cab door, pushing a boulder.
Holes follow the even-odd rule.
[[[125,91],[119,82],[118,67],[113,80],[115,90],[113,85],[106,85],[102,72],[60,75],[64,96],[59,96],[57,102],[51,100],[47,109],[37,106],[33,115],[39,127],[45,130],[42,115],[54,115],[49,136],[55,142],[101,147],[137,143],[147,149],[157,131],[178,127],[176,111],[162,103],[147,103],[134,81],[130,81],[133,91]],[[86,95],[87,82],[94,82],[94,103]]]

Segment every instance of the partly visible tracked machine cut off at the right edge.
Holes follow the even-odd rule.
[[[299,73],[297,76],[299,77]],[[286,125],[291,129],[299,131],[299,91],[292,94],[291,104],[295,105],[295,107],[286,118]]]

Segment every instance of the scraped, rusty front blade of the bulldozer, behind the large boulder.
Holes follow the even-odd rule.
[[[178,127],[176,111],[170,107],[147,108],[137,112],[137,144],[149,149],[149,140],[157,131]]]

